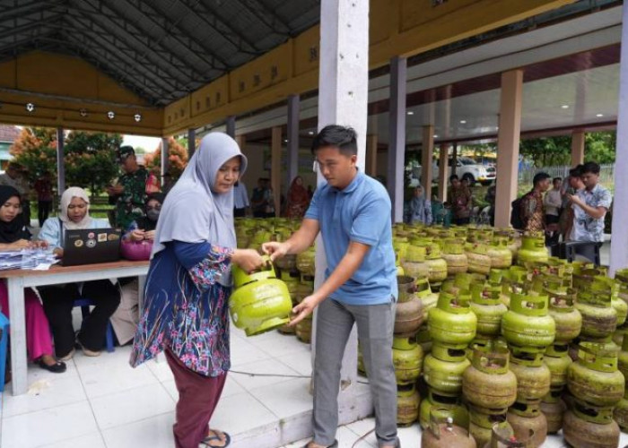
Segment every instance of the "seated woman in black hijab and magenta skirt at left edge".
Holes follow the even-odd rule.
[[[0,185],[0,251],[19,251],[38,245],[31,243],[31,233],[22,222],[21,202],[20,193],[13,186]],[[10,319],[9,294],[4,281],[0,281],[0,308]],[[54,357],[50,327],[44,309],[39,303],[39,297],[30,288],[24,291],[24,308],[29,358],[50,372],[65,372],[65,363]]]

